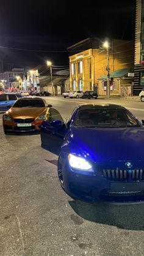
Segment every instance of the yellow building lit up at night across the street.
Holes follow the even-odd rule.
[[[77,49],[82,43],[77,43]],[[69,47],[69,49],[73,48],[76,49],[76,45]],[[132,67],[134,67],[134,43],[125,40],[112,40],[109,44],[110,73]],[[98,95],[106,95],[103,80],[98,80],[102,76],[107,76],[106,68],[107,50],[98,48],[98,46],[97,49],[85,49],[70,56],[70,90],[98,90]],[[118,89],[117,93],[113,90],[110,94],[118,95],[120,90]]]

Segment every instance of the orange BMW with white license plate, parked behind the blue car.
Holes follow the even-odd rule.
[[[20,98],[2,117],[4,133],[39,131],[43,120],[51,116],[51,104],[42,98]]]

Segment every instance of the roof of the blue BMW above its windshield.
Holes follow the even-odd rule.
[[[81,110],[85,110],[85,109],[123,109],[125,110],[126,108],[124,108],[121,105],[117,105],[117,104],[84,104],[84,105],[79,105],[78,106],[79,109]]]

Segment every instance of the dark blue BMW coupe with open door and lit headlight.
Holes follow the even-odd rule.
[[[60,185],[73,199],[144,201],[144,120],[116,104],[77,106],[67,122],[51,109],[41,147],[59,155]]]

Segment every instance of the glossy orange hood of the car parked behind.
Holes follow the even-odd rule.
[[[12,118],[21,116],[36,118],[38,115],[46,114],[46,108],[10,108],[6,114]]]

